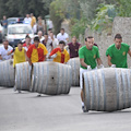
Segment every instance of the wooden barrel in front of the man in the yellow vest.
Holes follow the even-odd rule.
[[[19,91],[31,90],[31,69],[28,62],[15,64],[15,88]]]

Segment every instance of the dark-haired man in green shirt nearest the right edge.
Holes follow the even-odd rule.
[[[128,68],[127,53],[131,57],[130,46],[122,43],[120,34],[115,36],[115,44],[108,47],[106,56],[108,57],[108,66],[111,68]]]

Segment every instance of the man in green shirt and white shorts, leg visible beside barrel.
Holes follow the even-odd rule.
[[[82,74],[84,72],[91,71],[92,69],[97,69],[96,61],[100,68],[104,68],[102,64],[102,60],[99,57],[99,51],[96,46],[94,46],[94,38],[92,36],[88,36],[85,38],[85,45],[79,50],[79,57],[80,57],[80,86],[81,86],[81,99],[82,99],[82,109],[85,112],[86,109],[84,107],[84,98],[83,98],[83,80]]]

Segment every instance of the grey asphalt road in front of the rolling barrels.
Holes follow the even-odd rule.
[[[79,87],[41,97],[0,87],[0,131],[131,131],[131,109],[83,114]]]

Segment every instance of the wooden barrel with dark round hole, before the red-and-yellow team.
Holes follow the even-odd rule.
[[[47,95],[69,94],[71,74],[71,67],[67,64],[51,61],[34,63],[32,91]]]

